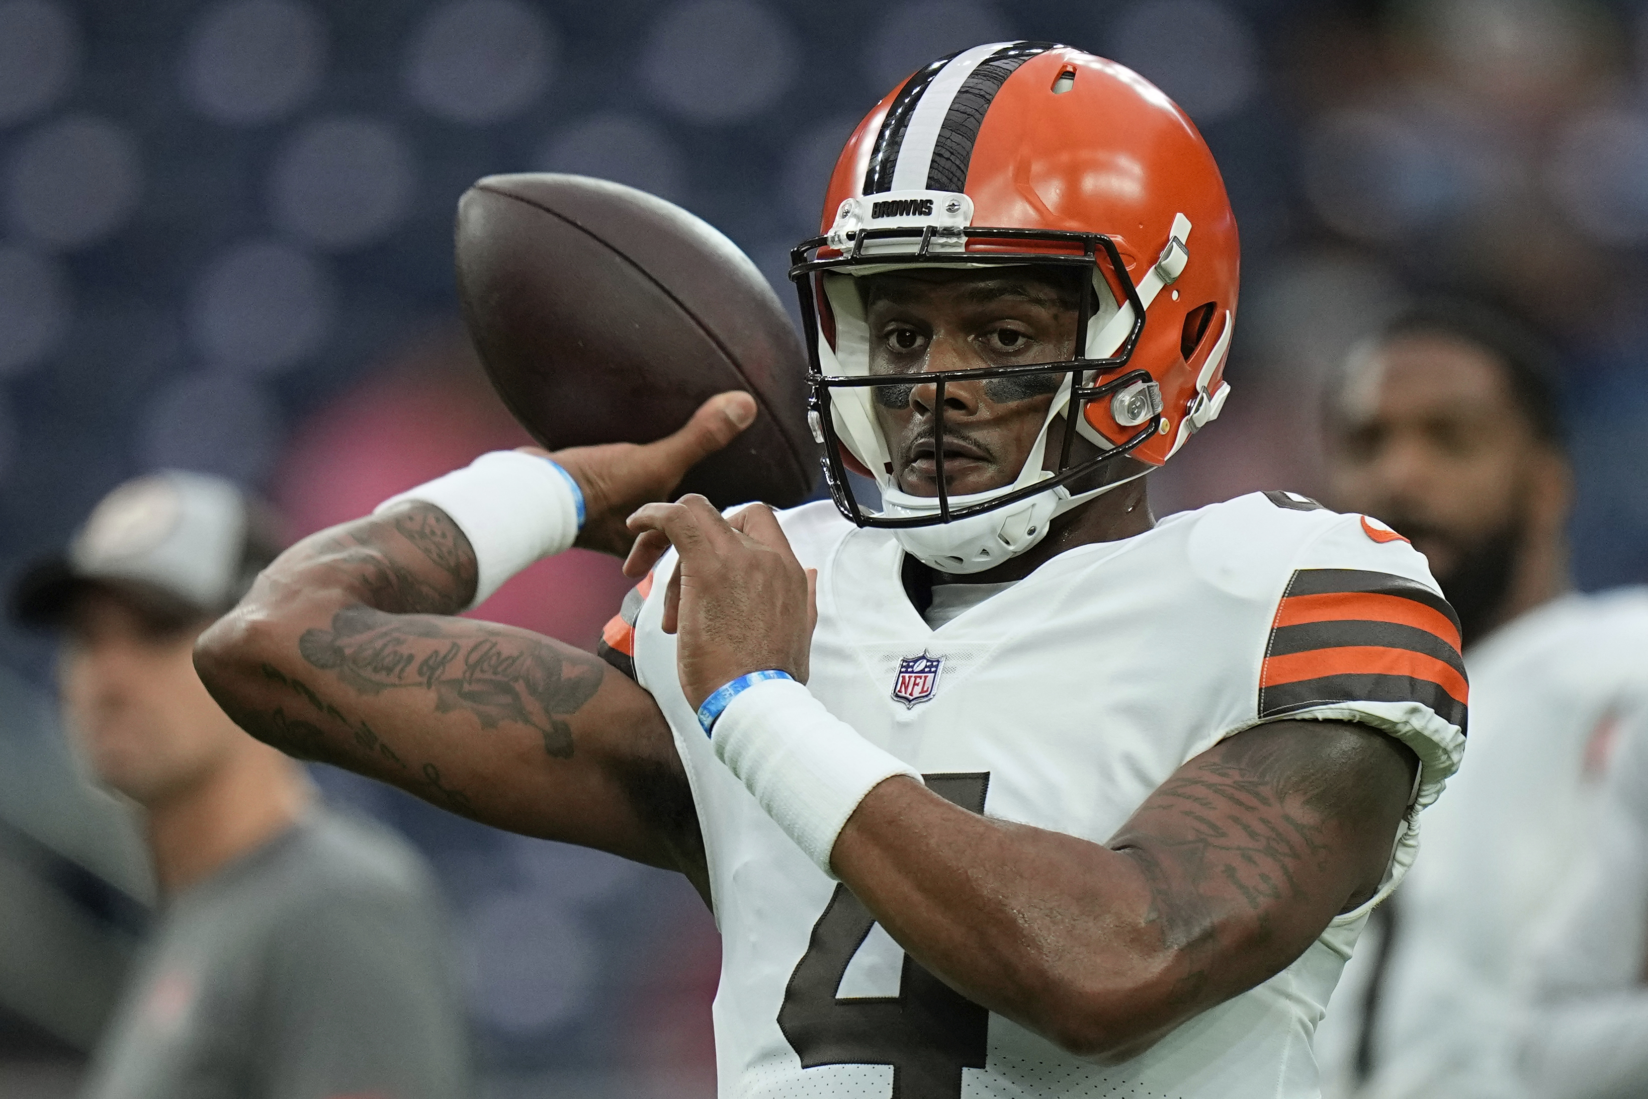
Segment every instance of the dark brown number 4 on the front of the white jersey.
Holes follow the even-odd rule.
[[[944,801],[984,812],[987,773],[923,778]],[[859,898],[837,885],[784,989],[778,1028],[803,1068],[892,1064],[892,1099],[957,1099],[961,1069],[984,1068],[989,1012],[908,954],[897,997],[837,997],[847,966],[873,926],[875,918]]]

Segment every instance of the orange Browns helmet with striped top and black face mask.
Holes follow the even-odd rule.
[[[1068,46],[992,43],[915,72],[847,140],[831,176],[822,236],[791,259],[812,366],[809,420],[826,443],[842,514],[895,531],[1004,509],[1017,516],[1004,529],[987,524],[982,554],[974,547],[964,560],[931,555],[944,570],[974,572],[1023,552],[1053,514],[1103,491],[1071,496],[1066,484],[1119,455],[1162,465],[1229,395],[1223,367],[1236,320],[1238,241],[1213,153],[1149,81]],[[872,387],[887,379],[870,376],[852,277],[995,264],[1091,270],[1094,293],[1083,295],[1076,333],[1081,358],[925,374],[939,387],[936,407],[946,382],[1042,374],[1061,376],[1061,389],[1014,484],[946,494],[936,417],[938,498],[908,498],[892,483],[870,410]],[[1071,463],[1074,433],[1066,428],[1050,471],[1048,427],[1066,409],[1066,422],[1103,453]],[[882,511],[857,503],[849,468],[877,479]],[[918,542],[911,535],[906,547],[928,560]]]

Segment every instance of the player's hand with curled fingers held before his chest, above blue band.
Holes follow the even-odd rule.
[[[702,496],[646,504],[625,573],[643,577],[671,545],[681,555],[664,592],[664,633],[677,638],[681,689],[695,709],[738,676],[778,669],[808,680],[816,572],[801,568],[773,509],[723,519]]]

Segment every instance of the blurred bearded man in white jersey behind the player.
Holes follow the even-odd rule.
[[[1412,310],[1328,392],[1328,504],[1430,560],[1462,623],[1470,761],[1374,913],[1317,1051],[1328,1096],[1516,1096],[1513,990],[1648,690],[1648,593],[1579,595],[1572,470],[1543,343],[1473,303]]]

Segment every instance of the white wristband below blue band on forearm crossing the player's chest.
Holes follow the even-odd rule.
[[[836,837],[864,796],[895,774],[921,781],[793,679],[763,679],[738,692],[710,743],[766,816],[831,877]]]

